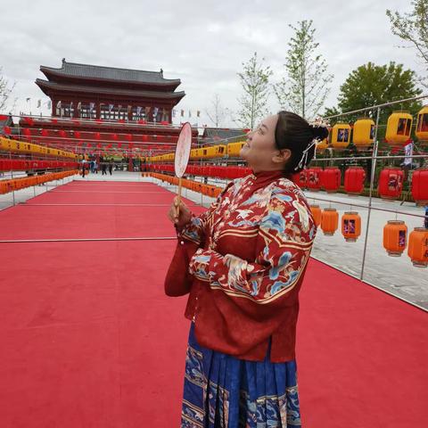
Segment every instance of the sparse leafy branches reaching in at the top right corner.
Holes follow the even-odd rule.
[[[416,48],[418,57],[428,69],[428,0],[412,0],[413,11],[400,14],[386,11],[391,21],[391,31],[400,37],[407,45]],[[428,87],[426,76],[421,82]]]

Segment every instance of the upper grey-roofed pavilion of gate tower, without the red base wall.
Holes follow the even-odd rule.
[[[36,84],[52,100],[52,115],[76,119],[172,122],[172,109],[185,96],[175,92],[179,78],[163,71],[100,67],[66,62],[54,69],[42,65],[47,80]]]

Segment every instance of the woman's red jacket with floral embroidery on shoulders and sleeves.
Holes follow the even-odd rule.
[[[185,317],[198,342],[261,361],[272,338],[271,361],[294,359],[298,293],[317,232],[300,188],[281,171],[235,179],[177,232],[193,246]]]

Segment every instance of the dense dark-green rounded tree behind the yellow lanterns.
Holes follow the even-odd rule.
[[[324,116],[412,98],[421,94],[422,90],[416,86],[415,71],[404,70],[402,64],[395,62],[382,66],[368,62],[350,72],[341,86],[337,107],[327,109]],[[412,114],[416,114],[420,108],[421,103],[418,101],[385,107],[381,111],[380,123],[386,123],[386,119],[392,111],[408,110]],[[374,113],[375,111],[366,111],[366,113],[357,113],[353,116],[347,115],[342,119],[353,121],[365,115],[374,117]],[[333,119],[332,122],[339,121],[339,119]]]

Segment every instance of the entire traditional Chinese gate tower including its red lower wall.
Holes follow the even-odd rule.
[[[163,71],[100,67],[62,60],[41,66],[47,80],[36,84],[52,100],[52,117],[21,118],[24,141],[62,147],[92,156],[129,159],[175,149],[180,128],[172,109],[185,96],[180,79]],[[198,131],[193,128],[193,144]]]

